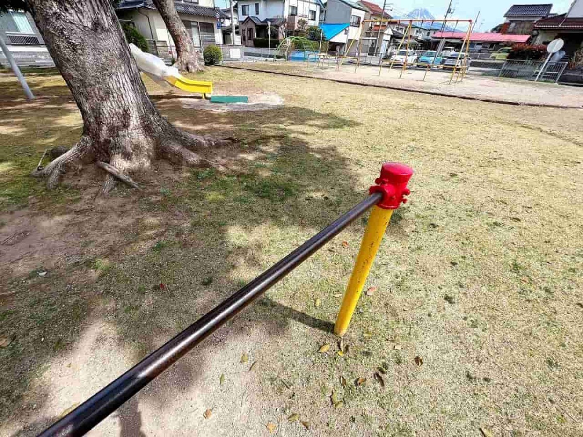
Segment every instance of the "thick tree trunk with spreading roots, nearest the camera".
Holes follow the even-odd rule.
[[[53,188],[72,166],[106,161],[121,174],[156,157],[213,165],[186,147],[213,140],[174,128],[156,110],[132,59],[110,0],[29,0],[55,65],[83,117],[79,142],[34,175]],[[102,192],[115,186],[107,174]]]

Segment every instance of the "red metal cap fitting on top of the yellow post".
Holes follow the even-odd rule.
[[[413,169],[407,167],[405,164],[399,163],[384,163],[381,167],[381,175],[375,179],[373,185],[368,191],[372,193],[383,193],[382,200],[378,203],[378,207],[383,209],[397,209],[402,203],[407,203],[407,199],[403,196],[408,196],[410,191],[407,188],[407,183],[413,175]]]

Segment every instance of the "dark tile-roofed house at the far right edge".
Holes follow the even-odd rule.
[[[538,20],[534,25],[536,44],[548,44],[561,38],[565,42],[563,50],[571,58],[583,47],[583,0],[575,0],[567,13]]]

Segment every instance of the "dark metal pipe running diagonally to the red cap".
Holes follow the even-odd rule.
[[[324,244],[338,235],[352,221],[360,217],[371,206],[382,199],[382,193],[373,193],[349,212],[337,218],[333,223],[308,239],[303,245],[291,252],[278,263],[265,270],[246,286],[237,291],[222,304],[216,306],[202,318],[196,320],[187,329],[167,341],[164,346],[153,351],[150,355],[129,369],[108,386],[94,394],[71,413],[45,429],[39,437],[48,436],[80,436],[99,424],[104,418],[113,413],[125,401],[138,393],[174,364],[182,355],[213,333],[223,323],[249,305],[273,284],[295,269]]]

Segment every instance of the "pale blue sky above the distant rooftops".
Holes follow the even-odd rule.
[[[368,0],[374,3],[380,3],[382,8],[382,0]],[[452,7],[454,8],[454,13],[452,17],[454,19],[476,19],[476,15],[480,12],[480,17],[477,20],[477,24],[474,31],[486,32],[490,31],[492,27],[496,24],[504,22],[504,13],[510,6],[525,5],[525,4],[536,4],[536,3],[553,3],[552,12],[563,13],[567,12],[571,2],[573,0],[549,0],[549,1],[512,1],[512,0],[452,0]],[[449,4],[449,0],[387,0],[388,3],[394,3],[392,6],[391,15],[406,15],[413,9],[425,8],[431,12],[436,18],[443,17],[445,10]],[[389,6],[387,7],[387,9]],[[461,27],[461,26],[460,26]]]

